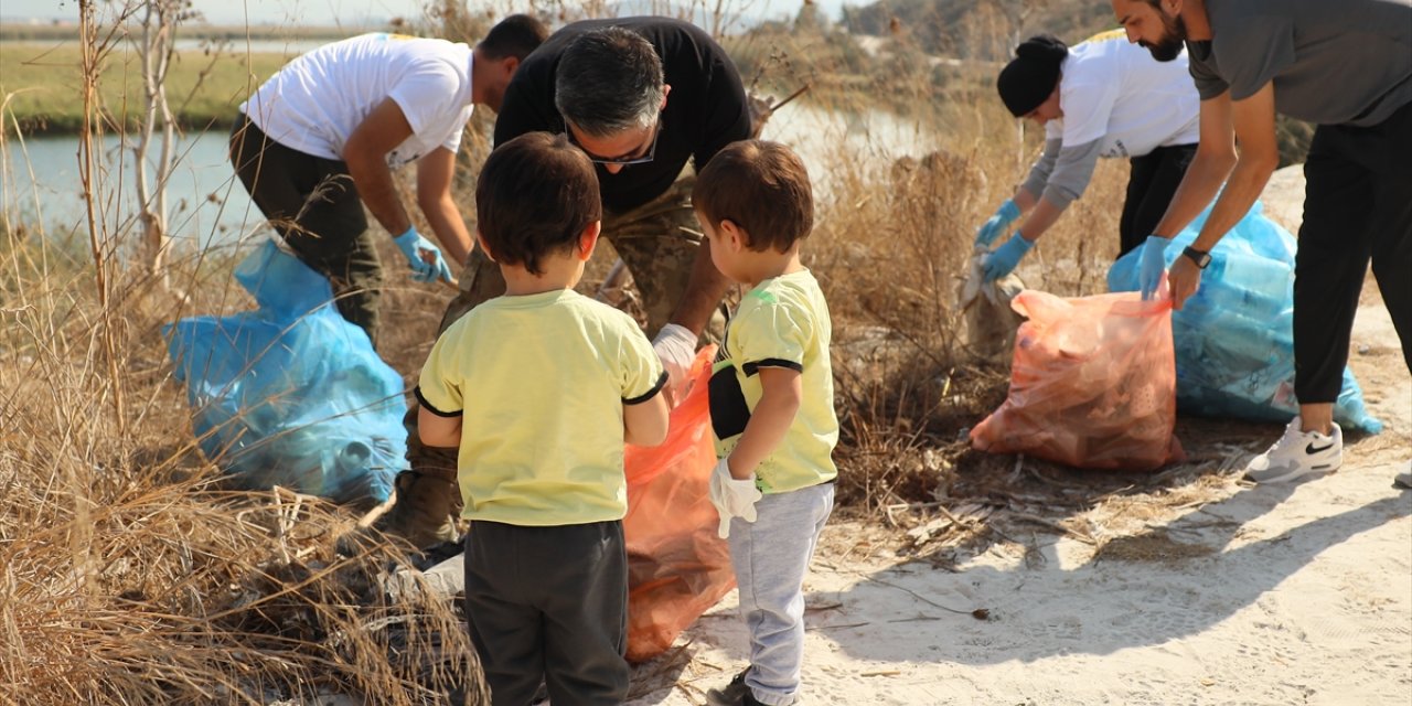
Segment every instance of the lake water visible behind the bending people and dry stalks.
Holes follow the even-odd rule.
[[[902,155],[921,157],[936,138],[916,123],[885,112],[829,112],[792,103],[767,123],[764,137],[789,144],[809,167],[816,198],[826,202],[840,172],[858,168],[885,169]],[[181,141],[178,168],[168,184],[169,230],[186,250],[233,244],[261,225],[258,209],[234,178],[226,157],[227,134],[212,131]],[[78,169],[76,137],[10,138],[0,165],[0,208],[11,223],[51,234],[86,233],[85,205]],[[119,137],[103,143],[107,175],[100,189],[100,212],[109,233],[136,232],[131,144]],[[840,165],[842,161],[850,164]],[[121,168],[119,168],[121,167]],[[466,205],[467,217],[472,216]]]

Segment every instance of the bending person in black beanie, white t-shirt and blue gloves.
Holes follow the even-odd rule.
[[[1045,126],[1045,151],[976,234],[990,246],[1025,212],[1029,217],[984,260],[987,280],[1010,274],[1083,195],[1100,157],[1128,158],[1127,199],[1118,222],[1118,254],[1142,244],[1166,212],[1196,155],[1200,100],[1186,72],[1186,55],[1163,64],[1121,31],[1075,47],[1031,37],[995,82],[1015,117]]]

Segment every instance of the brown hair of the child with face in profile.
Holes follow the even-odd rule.
[[[746,229],[746,247],[785,253],[813,230],[813,188],[794,150],[741,140],[716,152],[696,176],[692,205],[713,229],[722,220]]]

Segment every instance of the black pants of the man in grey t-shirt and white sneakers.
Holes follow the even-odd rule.
[[[1374,127],[1319,126],[1295,254],[1295,395],[1333,402],[1372,274],[1412,370],[1412,103]]]

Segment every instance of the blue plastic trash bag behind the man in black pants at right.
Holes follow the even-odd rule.
[[[1176,340],[1176,405],[1206,417],[1288,422],[1299,414],[1295,400],[1295,237],[1262,213],[1255,202],[1216,249],[1202,285],[1182,311],[1172,312]],[[1192,244],[1210,209],[1166,249],[1166,264]],[[1142,249],[1108,270],[1108,289],[1138,289]],[[1333,411],[1344,429],[1370,433],[1382,422],[1368,414],[1353,373],[1343,370],[1343,391]]]

